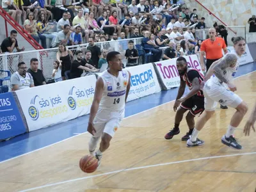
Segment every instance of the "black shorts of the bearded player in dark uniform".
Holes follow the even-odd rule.
[[[189,99],[185,100],[180,105],[183,109],[187,109],[194,116],[204,112],[204,97],[198,97],[194,95]]]

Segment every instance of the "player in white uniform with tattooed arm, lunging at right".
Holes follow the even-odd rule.
[[[204,144],[204,142],[197,139],[198,132],[214,114],[216,106],[218,102],[220,102],[220,104],[236,109],[236,113],[234,113],[231,118],[226,134],[221,138],[221,142],[228,147],[236,149],[242,148],[232,134],[234,134],[234,131],[241,120],[243,120],[244,115],[248,111],[248,106],[238,95],[236,95],[236,93],[234,93],[237,89],[236,85],[231,81],[239,67],[238,60],[245,51],[246,42],[243,37],[237,36],[236,38],[233,38],[233,43],[234,53],[228,53],[220,60],[212,63],[205,76],[205,80],[201,83],[202,86],[204,86],[205,113],[203,113],[198,122],[196,122],[191,138],[187,141],[188,147]]]

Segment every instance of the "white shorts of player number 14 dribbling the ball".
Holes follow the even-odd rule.
[[[122,119],[124,118],[124,111],[124,109],[121,111],[99,109],[93,121],[96,131],[93,137],[101,136],[102,132],[106,132],[113,137],[117,129],[120,127]]]

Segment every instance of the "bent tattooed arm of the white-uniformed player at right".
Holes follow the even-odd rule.
[[[223,70],[225,70],[228,67],[232,67],[236,65],[237,62],[237,56],[236,54],[226,54],[225,58],[220,61],[220,63],[217,63],[212,68],[213,74],[220,79],[220,81],[224,83],[228,83],[228,79],[224,76]]]

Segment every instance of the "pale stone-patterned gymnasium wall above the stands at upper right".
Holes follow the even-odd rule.
[[[219,25],[221,22],[209,15],[209,12],[205,10],[196,1],[185,0],[186,7],[192,12],[194,8],[197,10],[198,16],[205,17],[205,24],[207,28],[211,28],[214,22]],[[248,20],[252,15],[256,14],[256,0],[200,0],[208,10],[210,10],[216,17],[220,18],[227,26],[246,26],[246,33],[244,28],[230,28],[236,31],[237,36],[246,37],[246,42],[253,42],[256,38],[256,33],[249,32]],[[228,38],[231,39],[232,36],[236,36],[230,29],[228,29]],[[229,41],[230,42],[230,41]]]

